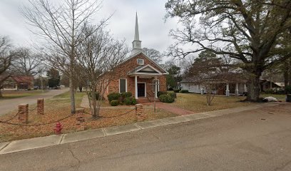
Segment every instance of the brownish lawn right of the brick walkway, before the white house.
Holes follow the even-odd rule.
[[[242,96],[229,96],[225,97],[217,95],[213,99],[212,105],[206,105],[206,95],[200,95],[197,93],[177,93],[177,98],[172,105],[178,108],[191,110],[195,113],[202,113],[213,110],[220,110],[225,108],[235,108],[250,105],[251,103],[240,102],[244,100]]]

